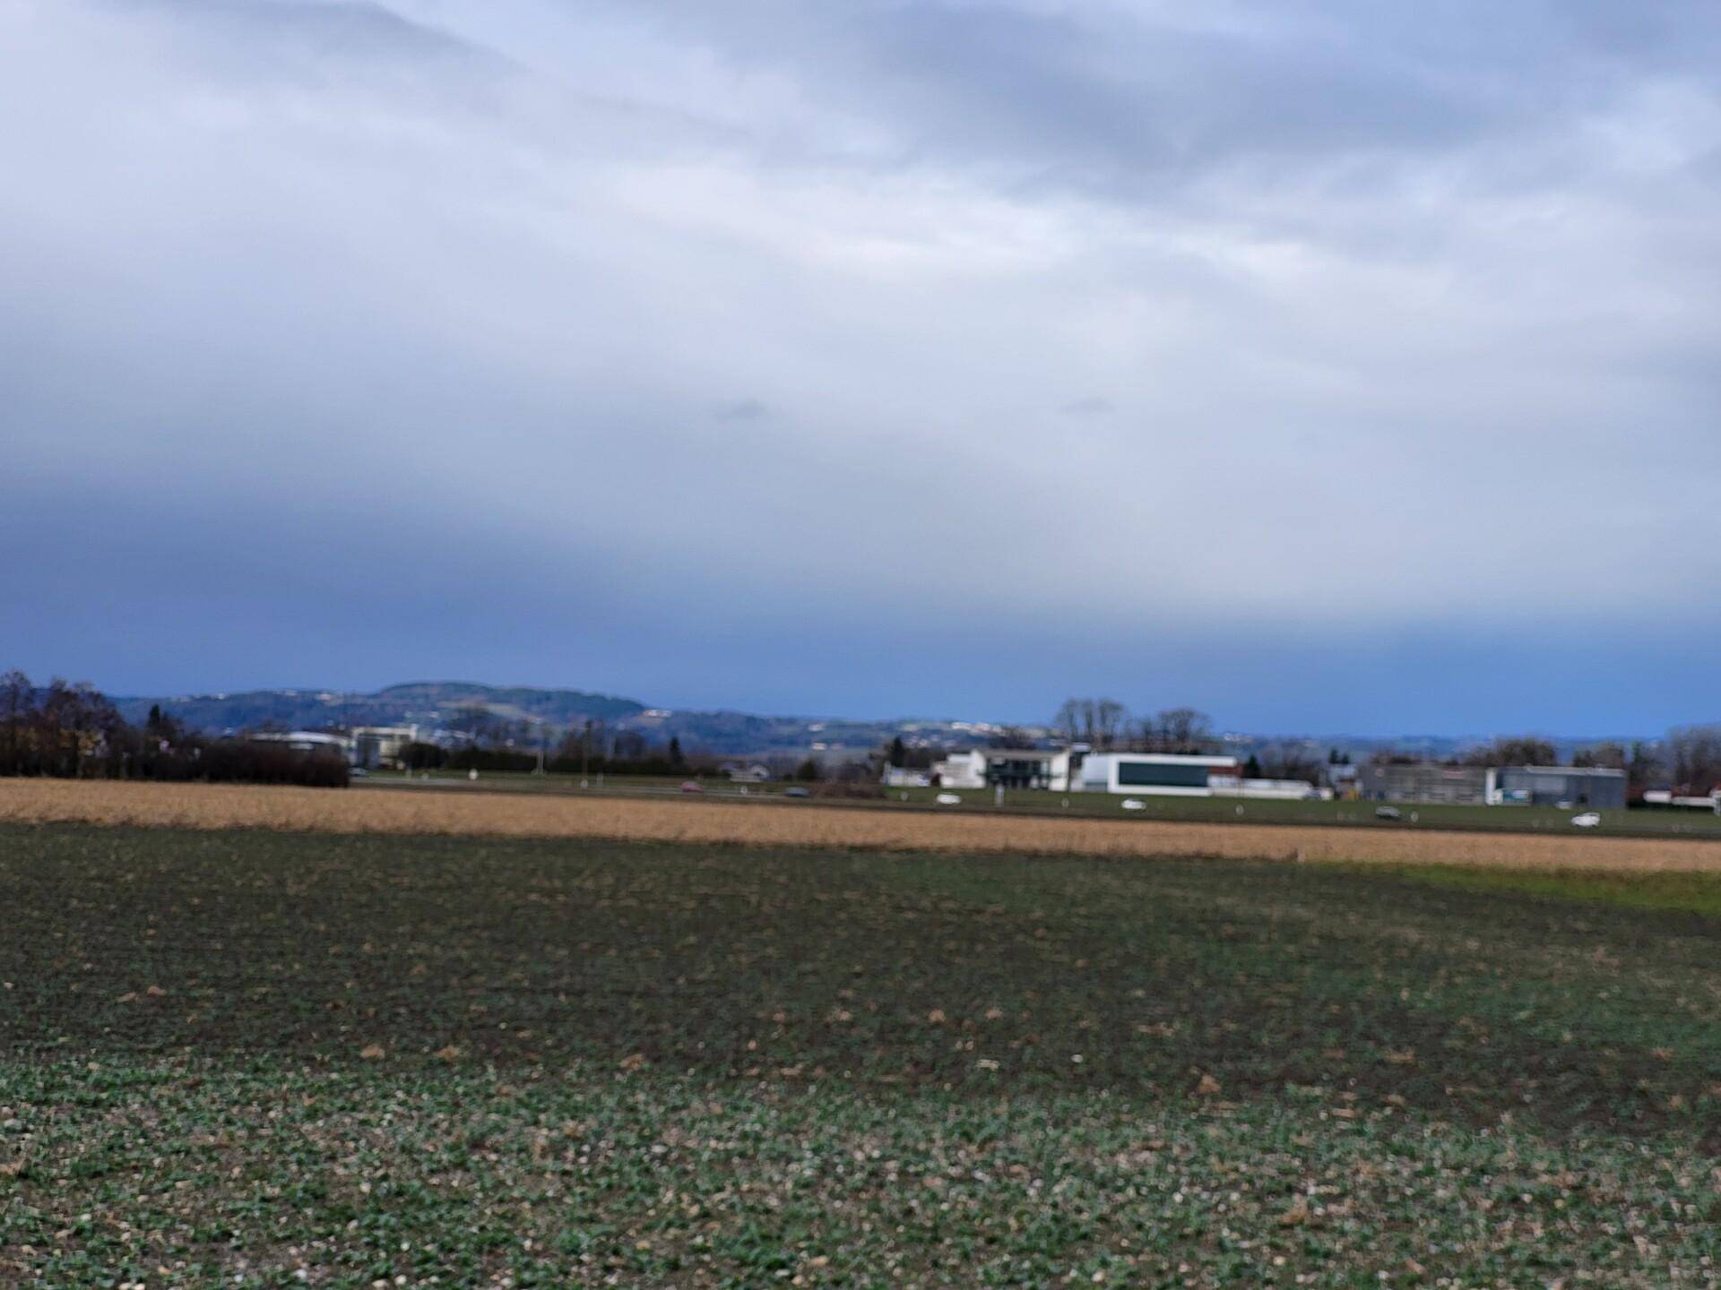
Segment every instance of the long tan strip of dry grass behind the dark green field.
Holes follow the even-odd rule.
[[[1301,850],[1308,860],[1721,872],[1721,841],[936,815],[434,789],[10,779],[0,781],[0,820],[1115,857],[1291,858]]]

